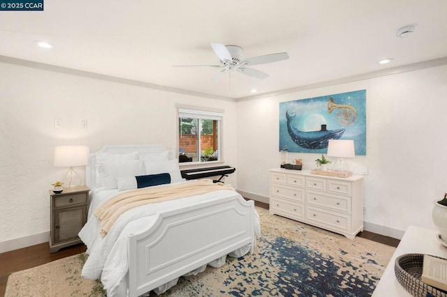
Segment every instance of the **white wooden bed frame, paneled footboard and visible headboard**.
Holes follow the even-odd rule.
[[[86,184],[93,189],[98,153],[158,153],[160,145],[104,146],[91,153]],[[175,148],[170,159],[175,158]],[[254,201],[239,194],[161,213],[156,223],[129,235],[129,296],[140,296],[229,252],[251,244],[254,252]]]

